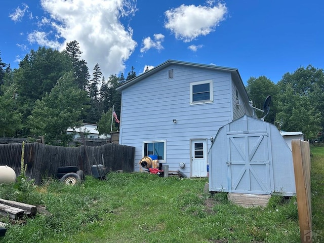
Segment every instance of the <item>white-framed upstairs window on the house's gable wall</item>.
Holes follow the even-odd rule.
[[[213,80],[190,83],[190,105],[213,102]]]

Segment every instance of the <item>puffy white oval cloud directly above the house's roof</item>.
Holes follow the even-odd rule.
[[[177,39],[190,42],[200,35],[215,31],[216,26],[225,19],[225,4],[214,5],[208,1],[207,6],[181,5],[165,12],[165,27],[175,34]]]

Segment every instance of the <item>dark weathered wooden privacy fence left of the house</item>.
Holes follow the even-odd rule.
[[[22,143],[0,144],[0,165],[13,168],[20,174]],[[59,147],[41,143],[25,143],[24,163],[26,175],[41,184],[42,179],[55,176],[61,166],[77,166],[91,175],[93,165],[104,164],[109,171],[134,171],[135,148],[109,143],[98,147]]]

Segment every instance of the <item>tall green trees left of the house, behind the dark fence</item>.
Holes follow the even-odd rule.
[[[121,94],[115,89],[136,76],[128,72],[105,78],[99,64],[90,75],[76,41],[60,52],[39,47],[31,50],[12,69],[0,52],[0,137],[45,136],[47,144],[66,146],[68,128],[83,123],[98,125],[100,134],[109,134],[112,107],[120,114]],[[113,131],[118,124],[113,121]]]

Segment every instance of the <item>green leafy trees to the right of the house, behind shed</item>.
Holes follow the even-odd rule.
[[[285,73],[274,84],[266,76],[250,77],[246,87],[254,106],[263,109],[271,95],[269,115],[265,118],[286,132],[303,132],[306,139],[322,139],[324,128],[324,71],[312,65]],[[257,111],[258,112],[258,111]],[[262,114],[258,113],[258,117]]]

